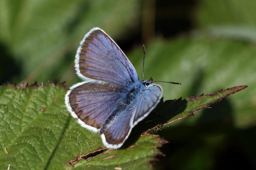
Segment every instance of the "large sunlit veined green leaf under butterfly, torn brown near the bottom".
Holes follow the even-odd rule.
[[[53,83],[0,87],[1,169],[9,164],[11,169],[62,169],[79,152],[103,148],[98,134],[71,118],[64,104],[65,94],[63,85]],[[148,169],[147,163],[159,154],[156,147],[164,142],[157,135],[140,137],[133,148],[111,150],[91,160],[81,160],[75,167]],[[110,158],[112,155],[117,157]]]

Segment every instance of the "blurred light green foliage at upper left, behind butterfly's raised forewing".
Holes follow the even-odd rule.
[[[125,28],[132,31],[131,22],[138,22],[139,6],[134,0],[0,3],[1,46],[20,69],[19,75],[13,75],[15,78],[10,77],[9,81],[45,82],[49,77],[69,80],[62,76],[88,30],[99,26],[111,35],[121,36]],[[123,6],[124,3],[127,5]]]

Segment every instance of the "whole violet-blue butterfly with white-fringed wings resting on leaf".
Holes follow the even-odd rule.
[[[100,28],[91,29],[80,42],[75,70],[83,82],[69,88],[66,107],[82,127],[99,133],[107,148],[120,148],[162,95],[152,78],[144,80],[144,59],[140,81],[124,52]]]

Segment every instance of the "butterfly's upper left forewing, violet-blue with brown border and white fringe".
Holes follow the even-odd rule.
[[[76,55],[77,74],[126,86],[138,81],[137,73],[117,44],[101,29],[94,28],[81,42]]]

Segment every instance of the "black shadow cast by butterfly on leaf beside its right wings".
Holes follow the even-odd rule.
[[[161,98],[156,108],[141,122],[139,122],[131,131],[128,139],[124,143],[124,147],[133,145],[141,136],[142,133],[157,125],[168,122],[174,116],[182,113],[187,107],[187,101],[182,98],[177,100],[163,101]]]

